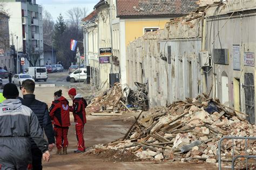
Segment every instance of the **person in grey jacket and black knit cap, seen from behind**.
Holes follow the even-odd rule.
[[[43,153],[43,160],[49,161],[48,142],[36,115],[17,99],[17,86],[6,84],[3,96],[6,100],[0,106],[0,168],[28,169],[32,162],[30,138]]]

